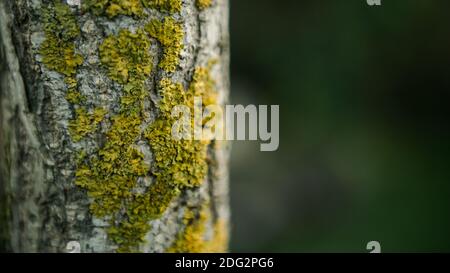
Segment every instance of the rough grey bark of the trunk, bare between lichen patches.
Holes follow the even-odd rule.
[[[69,124],[75,109],[66,99],[64,76],[46,67],[39,51],[45,40],[42,8],[49,2],[0,2],[0,250],[65,252],[67,244],[76,241],[81,252],[113,252],[117,244],[108,238],[109,223],[93,216],[89,208],[92,199],[74,182],[79,151],[95,153],[111,126],[108,118],[119,111],[123,87],[108,77],[99,46],[121,29],[134,32],[149,20],[168,15],[146,8],[140,19],[126,15],[109,18],[83,12],[79,1],[61,1],[70,6],[81,31],[74,41],[76,53],[83,57],[75,75],[78,91],[86,105],[107,109],[99,130],[74,141]],[[211,75],[219,103],[228,99],[228,0],[215,0],[207,9],[199,9],[195,0],[183,0],[181,12],[169,16],[182,22],[184,47],[176,71],[168,73],[158,67],[163,56],[161,44],[151,40],[153,70],[145,80],[148,97],[144,112],[148,118],[143,128],[158,115],[158,82],[169,77],[189,86],[195,68],[212,59],[217,61]],[[135,145],[151,166],[154,159],[148,141],[141,138]],[[208,207],[210,219],[205,221],[202,235],[205,240],[213,237],[218,219],[228,221],[228,146],[210,144],[207,157],[205,181],[183,189],[161,217],[150,221],[140,251],[165,252],[172,247],[186,229],[186,207],[197,212]],[[139,179],[147,178],[151,181],[151,174]]]

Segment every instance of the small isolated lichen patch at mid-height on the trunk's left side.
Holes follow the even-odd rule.
[[[76,118],[69,123],[70,135],[75,142],[97,130],[98,124],[106,115],[103,108],[96,108],[91,114],[85,108],[78,108],[75,112]]]

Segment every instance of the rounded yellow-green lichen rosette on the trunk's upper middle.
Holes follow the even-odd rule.
[[[109,77],[125,84],[150,74],[149,49],[150,40],[142,30],[136,33],[121,30],[118,36],[109,36],[100,45],[100,59],[108,68]]]

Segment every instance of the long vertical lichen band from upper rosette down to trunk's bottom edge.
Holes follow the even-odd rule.
[[[119,252],[137,251],[150,228],[149,216],[136,215],[138,209],[134,208],[140,200],[137,181],[149,171],[136,145],[147,96],[144,82],[152,67],[149,48],[149,38],[142,30],[122,30],[117,36],[107,37],[99,47],[110,78],[123,85],[121,109],[111,118],[104,145],[83,159],[76,172],[76,184],[85,188],[93,200],[93,215],[109,220],[108,235]]]

